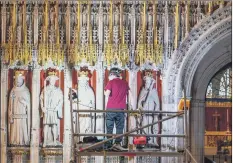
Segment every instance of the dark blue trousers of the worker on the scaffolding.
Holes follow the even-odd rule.
[[[106,128],[107,128],[107,134],[112,134],[114,122],[116,124],[116,134],[122,134],[124,129],[124,123],[125,123],[125,116],[122,112],[107,112],[106,114]],[[107,137],[107,138],[111,138]],[[120,143],[122,140],[122,137],[117,138],[115,140],[115,143]],[[110,142],[112,143],[112,141]]]

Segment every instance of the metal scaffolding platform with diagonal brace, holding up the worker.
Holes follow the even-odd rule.
[[[72,92],[72,89],[70,88],[70,92]],[[160,115],[163,116],[163,118],[158,119],[157,121],[153,122],[153,123],[149,123],[145,126],[140,126],[140,127],[135,127],[134,129],[131,129],[130,131],[126,131],[123,134],[106,134],[106,133],[92,133],[92,134],[87,134],[87,133],[80,133],[80,132],[74,132],[74,128],[73,125],[71,125],[72,127],[72,143],[73,143],[73,148],[72,148],[72,160],[81,162],[82,158],[88,159],[88,158],[92,158],[94,159],[95,156],[103,156],[105,158],[105,162],[106,162],[106,158],[107,157],[113,157],[115,156],[116,158],[121,158],[121,157],[128,157],[128,159],[135,159],[137,160],[138,157],[154,157],[156,159],[158,159],[159,157],[182,157],[184,162],[189,162],[191,159],[193,162],[197,163],[197,161],[195,160],[195,158],[192,156],[191,152],[189,151],[189,127],[188,127],[188,122],[189,122],[189,110],[187,110],[186,107],[186,94],[185,94],[185,89],[184,89],[184,109],[181,111],[177,111],[177,112],[168,112],[168,111],[152,111],[151,113],[155,114],[158,113]],[[106,112],[113,112],[112,110],[73,110],[72,109],[72,94],[70,93],[70,103],[71,103],[71,113],[73,114],[74,112],[76,112],[77,114],[79,114],[79,112],[93,112],[93,113],[106,113]],[[114,110],[114,112],[116,112]],[[131,113],[146,113],[147,111],[133,111],[133,110],[122,110],[119,112],[125,112],[127,114],[131,114]],[[169,114],[169,115],[168,115]],[[184,132],[183,134],[135,134],[135,132],[138,132],[140,130],[143,130],[145,128],[151,127],[155,124],[159,124],[162,123],[164,121],[167,121],[169,119],[175,118],[175,117],[179,117],[182,116],[183,117],[183,129]],[[73,120],[71,119],[71,124],[73,123]],[[136,146],[134,148],[129,148],[128,151],[113,151],[113,150],[109,150],[109,149],[105,149],[104,144],[109,142],[109,141],[113,141],[116,138],[120,138],[120,137],[135,137],[135,136],[149,136],[149,137],[174,137],[174,138],[182,138],[184,141],[184,149],[183,150],[179,150],[179,151],[164,151],[161,150],[161,148],[142,148],[142,149],[137,149]],[[110,137],[107,139],[104,139],[100,142],[93,142],[93,143],[76,143],[74,141],[74,137],[78,138],[77,140],[79,140],[80,136],[103,136],[103,137]],[[128,145],[132,145],[132,144],[128,144]],[[136,148],[136,149],[135,149]],[[189,158],[190,157],[190,158]],[[144,162],[143,162],[144,163]]]

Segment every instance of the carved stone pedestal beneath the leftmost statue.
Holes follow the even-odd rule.
[[[30,157],[29,147],[10,147],[8,148],[8,162],[21,163],[28,161]]]

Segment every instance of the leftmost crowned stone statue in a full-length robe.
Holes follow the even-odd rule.
[[[15,72],[14,87],[9,97],[9,144],[29,145],[31,102],[30,92],[25,85],[23,71]]]

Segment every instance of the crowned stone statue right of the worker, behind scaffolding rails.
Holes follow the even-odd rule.
[[[157,89],[154,88],[155,79],[153,78],[152,72],[147,71],[143,78],[144,87],[142,88],[139,98],[138,98],[138,108],[143,111],[159,111],[160,110],[160,102]],[[153,113],[143,113],[142,116],[142,126],[151,124],[153,122],[158,121],[158,115],[154,115]],[[151,127],[147,127],[144,129],[147,134],[158,134],[158,124],[155,124]],[[151,137],[149,142],[151,145],[158,146],[156,137]]]

